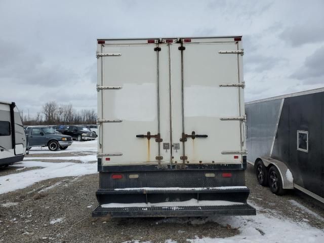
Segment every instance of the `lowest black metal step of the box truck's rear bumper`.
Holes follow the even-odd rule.
[[[200,217],[214,215],[256,215],[256,210],[248,204],[230,206],[175,206],[175,207],[97,207],[92,217]]]

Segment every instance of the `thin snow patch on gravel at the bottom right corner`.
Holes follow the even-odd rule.
[[[255,205],[253,205],[255,208]],[[261,209],[261,208],[260,208]],[[264,209],[262,209],[264,210]],[[281,217],[275,212],[260,213],[256,216],[214,216],[207,218],[168,218],[161,223],[205,224],[216,222],[224,227],[237,228],[240,233],[228,238],[194,238],[187,239],[193,243],[250,243],[250,242],[324,242],[324,230],[311,227],[305,222],[294,222]]]

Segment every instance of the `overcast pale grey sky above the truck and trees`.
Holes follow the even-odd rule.
[[[243,35],[246,101],[324,87],[324,1],[0,0],[0,100],[96,108],[96,39]]]

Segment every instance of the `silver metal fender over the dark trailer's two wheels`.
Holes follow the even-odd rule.
[[[282,188],[283,189],[294,189],[294,179],[286,164],[282,161],[271,157],[260,157],[265,167],[270,168],[270,166],[275,166],[281,176]],[[258,160],[257,159],[257,160]]]

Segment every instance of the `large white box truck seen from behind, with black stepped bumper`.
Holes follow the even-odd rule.
[[[255,215],[241,36],[98,39],[94,217]]]

